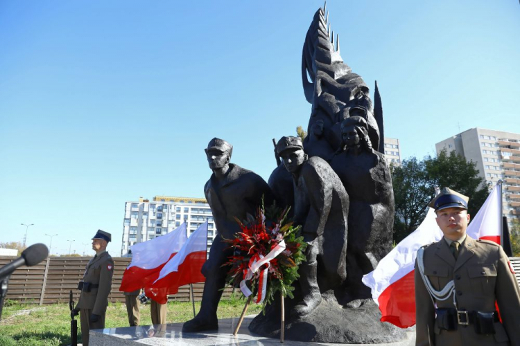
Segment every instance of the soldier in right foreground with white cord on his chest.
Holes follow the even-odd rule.
[[[500,245],[466,234],[467,201],[445,188],[430,204],[444,237],[417,252],[415,345],[520,346],[514,270]]]

